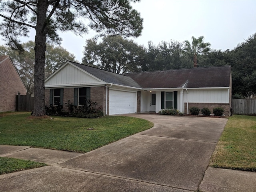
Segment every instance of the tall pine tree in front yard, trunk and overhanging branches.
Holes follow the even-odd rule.
[[[136,2],[137,0],[134,0]],[[34,67],[34,116],[44,116],[44,64],[46,38],[60,42],[57,30],[73,31],[76,34],[88,32],[79,18],[88,18],[88,25],[101,34],[139,36],[142,18],[132,9],[129,0],[2,0],[0,14],[1,34],[8,44],[23,51],[19,36],[27,36],[30,28],[36,31]]]

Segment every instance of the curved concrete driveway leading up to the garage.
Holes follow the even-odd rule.
[[[54,166],[3,175],[1,190],[198,190],[227,119],[126,116],[150,120],[154,127]]]

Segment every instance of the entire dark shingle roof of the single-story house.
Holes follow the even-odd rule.
[[[135,88],[180,88],[184,84],[185,88],[230,86],[231,66],[116,74],[76,62],[71,63],[104,82]]]

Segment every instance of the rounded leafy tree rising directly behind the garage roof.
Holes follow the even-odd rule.
[[[144,62],[145,49],[122,36],[106,36],[99,43],[86,41],[82,62],[114,73],[137,72]]]

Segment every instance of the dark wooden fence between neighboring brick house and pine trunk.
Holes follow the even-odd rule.
[[[16,95],[16,111],[34,110],[34,97],[30,95]]]

